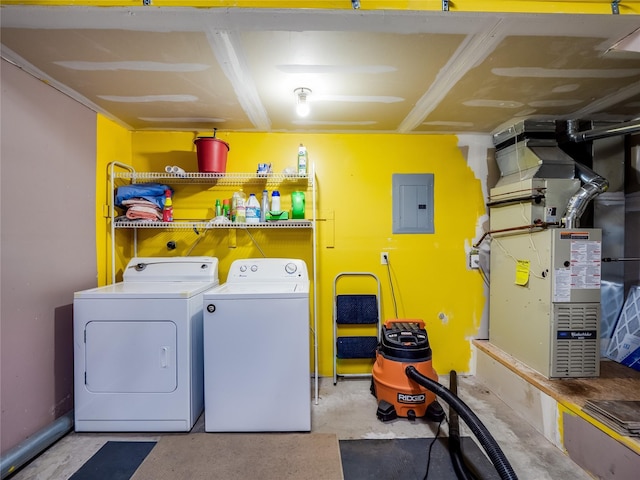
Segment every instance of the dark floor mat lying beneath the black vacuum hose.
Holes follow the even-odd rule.
[[[340,440],[344,480],[422,480],[433,438]],[[500,479],[484,452],[469,438],[460,439],[465,463],[483,480]],[[436,439],[431,449],[429,480],[454,479],[448,439]]]

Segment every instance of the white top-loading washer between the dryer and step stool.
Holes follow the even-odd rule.
[[[304,261],[236,260],[203,300],[205,431],[310,431]]]

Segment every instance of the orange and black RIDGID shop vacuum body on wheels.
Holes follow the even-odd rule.
[[[386,422],[397,417],[409,420],[425,417],[440,422],[444,410],[435,394],[409,379],[405,373],[408,366],[438,381],[431,365],[431,347],[424,322],[387,320],[382,325],[371,380],[371,393],[378,400],[378,419]]]

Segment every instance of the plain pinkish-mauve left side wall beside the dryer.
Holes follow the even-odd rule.
[[[73,406],[73,292],[96,286],[96,114],[2,61],[1,450]]]

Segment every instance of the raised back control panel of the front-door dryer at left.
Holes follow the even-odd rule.
[[[218,282],[215,257],[133,257],[122,275],[130,282]]]

